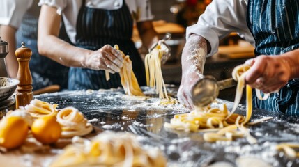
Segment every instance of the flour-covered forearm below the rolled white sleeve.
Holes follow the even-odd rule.
[[[183,76],[203,77],[204,63],[208,53],[208,42],[199,35],[192,34],[188,38],[182,53]]]

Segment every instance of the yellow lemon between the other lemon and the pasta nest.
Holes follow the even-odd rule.
[[[55,143],[61,137],[61,125],[55,117],[43,116],[34,120],[31,132],[40,143]]]

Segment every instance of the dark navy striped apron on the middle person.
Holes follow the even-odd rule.
[[[132,60],[133,71],[139,85],[146,84],[144,63],[132,42],[133,20],[128,6],[116,10],[89,8],[85,1],[79,10],[77,19],[77,47],[98,50],[106,44],[118,45],[119,49]],[[117,88],[121,86],[119,74],[110,74],[106,81],[104,70],[70,67],[68,89],[82,90],[100,88]]]

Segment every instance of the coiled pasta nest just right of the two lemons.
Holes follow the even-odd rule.
[[[56,120],[62,127],[61,136],[63,138],[84,136],[93,130],[93,126],[87,122],[83,113],[71,106],[61,109],[57,113]]]

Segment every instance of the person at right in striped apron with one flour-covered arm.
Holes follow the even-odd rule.
[[[271,93],[268,100],[254,94],[254,106],[299,116],[298,13],[296,0],[212,1],[197,24],[187,28],[178,100],[194,108],[191,90],[204,77],[206,57],[217,52],[220,39],[237,32],[255,46],[256,58],[246,62],[252,65],[246,84]]]

